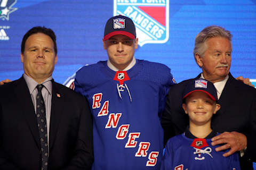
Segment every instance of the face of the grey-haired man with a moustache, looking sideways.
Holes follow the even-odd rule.
[[[231,43],[227,38],[213,37],[206,40],[205,46],[204,56],[196,54],[196,62],[202,67],[206,80],[212,83],[222,81],[231,65]]]

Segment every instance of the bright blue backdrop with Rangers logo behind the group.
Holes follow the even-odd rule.
[[[103,29],[113,15],[129,16],[137,27],[135,57],[164,63],[177,82],[201,72],[194,61],[194,39],[207,25],[233,34],[230,72],[256,85],[256,0],[0,0],[0,80],[23,73],[20,45],[31,27],[57,35],[55,81],[69,85],[83,65],[107,60]]]

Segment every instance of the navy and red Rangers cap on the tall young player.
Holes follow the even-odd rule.
[[[132,20],[123,15],[111,17],[105,25],[103,40],[106,41],[115,35],[125,35],[131,39],[136,38],[136,29]]]

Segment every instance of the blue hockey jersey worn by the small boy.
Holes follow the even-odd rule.
[[[239,170],[238,154],[223,157],[227,150],[216,152],[217,147],[211,145],[211,139],[177,135],[166,144],[161,170]]]

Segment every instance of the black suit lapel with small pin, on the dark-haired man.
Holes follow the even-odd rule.
[[[50,149],[54,145],[55,137],[57,135],[59,122],[62,117],[63,105],[65,101],[63,99],[63,94],[60,92],[58,84],[52,81],[52,107],[51,107],[51,120],[50,120]]]

